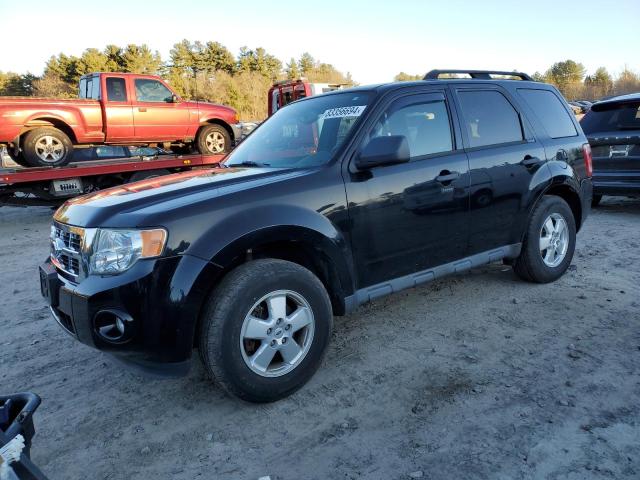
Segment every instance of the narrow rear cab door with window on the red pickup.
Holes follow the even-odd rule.
[[[105,141],[121,142],[135,139],[131,92],[127,92],[125,77],[103,75],[101,102]]]

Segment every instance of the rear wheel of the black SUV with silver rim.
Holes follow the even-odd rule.
[[[549,221],[551,223],[547,223]],[[557,242],[557,248],[552,243],[552,250],[542,250],[543,244],[549,240]],[[529,282],[553,282],[569,268],[575,246],[576,223],[571,208],[560,197],[544,196],[531,214],[522,251],[513,269],[520,278]],[[553,255],[554,252],[557,256]]]

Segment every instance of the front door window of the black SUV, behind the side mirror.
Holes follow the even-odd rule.
[[[444,100],[416,103],[385,112],[369,138],[404,135],[411,159],[453,150],[451,124]]]

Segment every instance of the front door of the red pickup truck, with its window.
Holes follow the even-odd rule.
[[[151,78],[133,79],[133,123],[139,140],[182,140],[189,129],[189,108],[173,101],[173,92]]]

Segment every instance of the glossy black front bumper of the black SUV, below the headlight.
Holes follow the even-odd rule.
[[[211,262],[181,255],[141,260],[120,275],[91,275],[75,284],[47,260],[40,288],[56,322],[80,342],[139,370],[176,376],[188,372],[200,308],[219,274]],[[126,320],[121,338],[101,333],[107,314]]]

